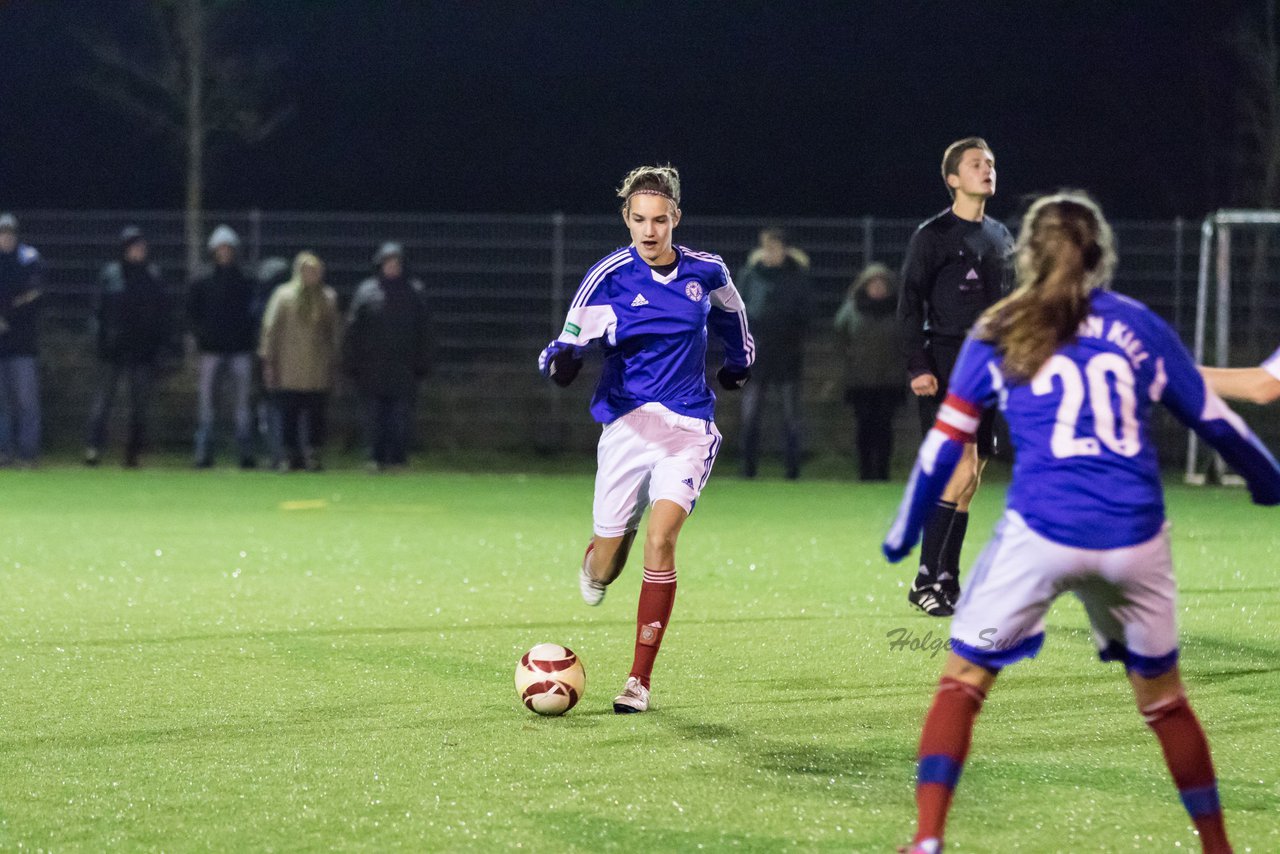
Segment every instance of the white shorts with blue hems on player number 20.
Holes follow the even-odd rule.
[[[1138,545],[1085,549],[1041,536],[1011,510],[956,603],[952,652],[992,670],[1033,657],[1044,639],[1044,615],[1062,593],[1084,604],[1102,661],[1124,662],[1148,679],[1178,662],[1167,522]]]

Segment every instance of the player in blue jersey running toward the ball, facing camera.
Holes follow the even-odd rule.
[[[631,246],[593,266],[568,310],[564,330],[538,367],[568,385],[586,344],[599,341],[604,369],[591,416],[604,425],[596,451],[595,536],[579,586],[588,604],[626,565],[645,506],[644,581],[635,659],[613,700],[625,714],[649,708],[649,676],[676,598],[676,539],[707,485],[721,435],[707,385],[707,330],[724,343],[717,378],[739,389],[755,357],[746,311],[718,255],[672,245],[680,224],[680,174],[640,166],[622,181],[622,220]]]

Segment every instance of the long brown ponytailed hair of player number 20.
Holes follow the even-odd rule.
[[[1075,337],[1089,291],[1115,269],[1115,239],[1102,210],[1082,191],[1036,200],[1014,247],[1018,288],[987,309],[975,335],[996,344],[1010,379],[1030,379]]]

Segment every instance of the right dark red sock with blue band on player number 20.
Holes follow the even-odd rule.
[[[1230,851],[1222,807],[1217,800],[1217,778],[1213,776],[1208,739],[1204,737],[1204,730],[1196,720],[1190,703],[1185,697],[1179,697],[1142,709],[1142,717],[1160,739],[1165,764],[1178,786],[1183,807],[1199,831],[1201,848],[1215,854]]]

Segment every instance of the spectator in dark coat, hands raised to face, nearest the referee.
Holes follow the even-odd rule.
[[[845,401],[858,423],[858,472],[861,480],[888,480],[893,457],[893,415],[906,399],[897,323],[897,275],[872,264],[849,287],[836,312],[836,333],[845,355]]]

